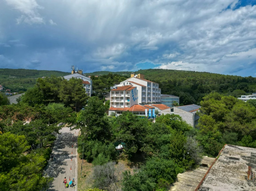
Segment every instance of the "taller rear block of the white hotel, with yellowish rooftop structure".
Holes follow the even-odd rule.
[[[120,84],[117,84],[117,87],[121,86],[133,86],[137,87],[138,90],[138,102],[141,105],[152,104],[152,103],[161,103],[161,89],[159,84],[145,80],[143,74],[137,74],[134,76],[134,73],[131,74],[131,78],[122,81]]]

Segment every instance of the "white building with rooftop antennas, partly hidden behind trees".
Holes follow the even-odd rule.
[[[71,74],[68,75],[68,76],[63,76],[63,78],[65,78],[66,80],[70,80],[71,78],[77,78],[77,79],[83,80],[83,82],[82,82],[83,88],[85,88],[86,94],[91,97],[91,94],[92,94],[92,80],[90,78],[88,78],[87,76],[85,76],[83,74],[82,70],[75,71],[74,67],[73,67],[73,70],[71,71]]]

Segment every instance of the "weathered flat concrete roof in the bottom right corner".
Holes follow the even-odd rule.
[[[198,191],[256,190],[256,182],[247,180],[248,166],[256,171],[256,149],[226,144],[217,158]]]

